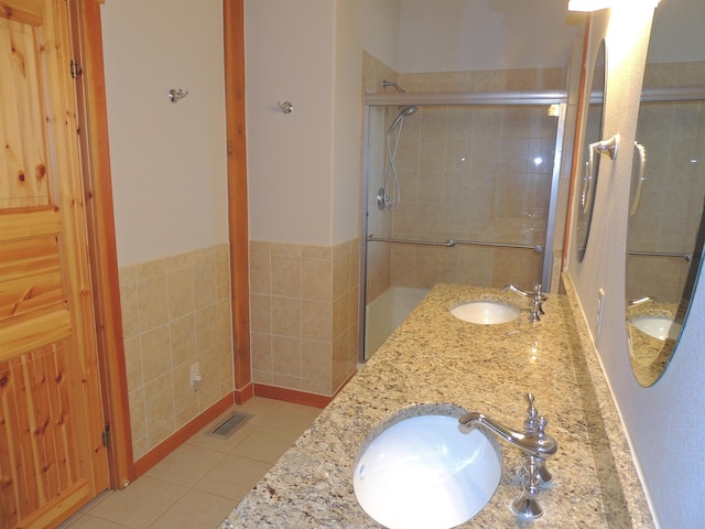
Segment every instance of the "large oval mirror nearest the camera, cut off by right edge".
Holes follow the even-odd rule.
[[[674,353],[705,238],[705,40],[690,22],[702,20],[701,0],[661,2],[649,44],[626,258],[629,353],[643,387]]]

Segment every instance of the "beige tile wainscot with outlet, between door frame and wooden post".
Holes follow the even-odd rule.
[[[138,460],[235,389],[228,246],[121,267],[120,300]]]

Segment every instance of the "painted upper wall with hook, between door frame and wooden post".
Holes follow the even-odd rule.
[[[228,240],[220,0],[101,7],[118,262]],[[171,88],[188,90],[176,105]]]

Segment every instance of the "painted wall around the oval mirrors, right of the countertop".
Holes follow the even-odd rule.
[[[646,3],[597,14],[590,32],[590,61],[599,37],[606,35],[607,42],[604,136],[619,132],[622,148],[634,141],[653,13]],[[585,260],[576,261],[572,242],[568,270],[592,328],[597,291],[606,291],[603,332],[596,345],[660,526],[699,528],[705,483],[705,292],[695,293],[687,325],[663,377],[651,388],[640,387],[631,373],[625,328],[630,153],[627,147],[615,162],[603,156]]]

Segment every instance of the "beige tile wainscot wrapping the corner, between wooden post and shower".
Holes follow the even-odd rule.
[[[333,396],[358,358],[359,240],[250,241],[252,381]]]

